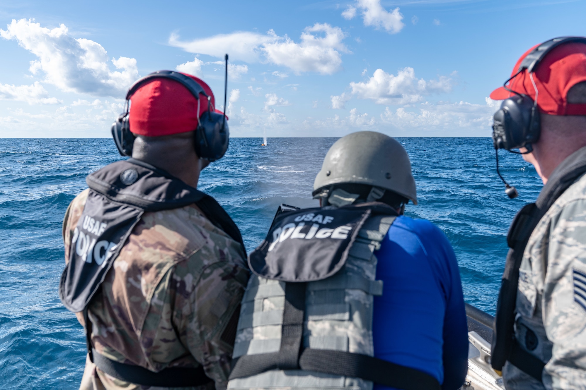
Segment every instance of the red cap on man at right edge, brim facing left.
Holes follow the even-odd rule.
[[[539,45],[533,46],[515,64],[511,77],[527,54]],[[568,90],[577,83],[586,81],[586,44],[568,42],[551,49],[533,73],[537,87],[537,107],[550,115],[586,115],[586,104],[570,104],[566,100]],[[509,88],[517,93],[529,95],[535,100],[535,88],[524,69],[509,82]],[[490,94],[493,100],[503,100],[514,95],[505,87],[496,88]]]

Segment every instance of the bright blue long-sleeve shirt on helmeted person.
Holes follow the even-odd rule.
[[[454,250],[425,220],[398,217],[375,252],[374,356],[427,372],[458,389],[468,369],[468,327]],[[375,384],[374,390],[390,389]]]

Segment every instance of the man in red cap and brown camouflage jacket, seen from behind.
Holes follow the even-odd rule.
[[[117,146],[132,158],[88,176],[90,189],[64,217],[68,264],[60,296],[90,325],[84,390],[222,389],[230,373],[246,252],[230,217],[196,190],[200,171],[226,151],[227,127],[222,113],[213,116],[206,83],[161,72],[135,83],[130,117],[119,119],[132,134],[123,130],[130,141],[117,139]],[[216,121],[212,132],[225,129],[219,157],[202,158],[210,139],[196,149],[202,134],[194,133],[205,132],[205,120]],[[118,243],[104,239],[111,226],[126,234]],[[95,274],[95,293],[76,303],[96,263],[104,273]]]

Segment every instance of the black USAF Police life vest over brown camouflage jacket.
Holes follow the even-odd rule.
[[[202,366],[152,372],[95,353],[91,348],[87,306],[145,212],[196,204],[214,225],[240,242],[244,250],[238,227],[212,197],[139,160],[112,163],[88,175],[86,182],[90,191],[71,237],[69,262],[59,283],[59,298],[71,312],[84,313],[90,360],[107,374],[133,384],[184,387],[210,382]]]

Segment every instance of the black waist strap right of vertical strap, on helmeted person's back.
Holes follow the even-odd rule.
[[[302,370],[355,377],[404,390],[440,390],[440,382],[423,371],[368,355],[305,348]]]

